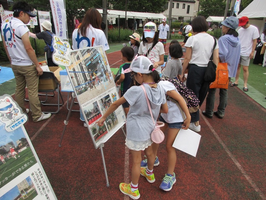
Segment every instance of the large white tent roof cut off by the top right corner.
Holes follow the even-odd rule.
[[[266,17],[265,0],[254,0],[242,12],[239,13],[237,18],[247,16],[248,18]]]

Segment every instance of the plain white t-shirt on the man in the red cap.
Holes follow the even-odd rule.
[[[241,43],[240,55],[249,56],[252,51],[253,40],[259,37],[259,31],[257,27],[250,25],[246,29],[240,28],[237,32]]]

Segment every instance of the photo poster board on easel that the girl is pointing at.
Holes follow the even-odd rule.
[[[70,51],[71,65],[66,67],[77,100],[88,125],[95,148],[106,142],[126,118],[119,106],[99,127],[97,122],[119,98],[110,66],[102,46]]]

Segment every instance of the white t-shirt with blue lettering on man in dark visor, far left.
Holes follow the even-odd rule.
[[[20,38],[25,33],[28,34],[29,32],[28,27],[21,20],[15,17],[11,20],[11,26],[14,30],[14,33]],[[32,60],[29,58],[22,40],[13,35],[13,32],[10,28],[10,22],[2,24],[1,30],[2,36],[5,38],[5,41],[3,42],[6,45],[11,58],[11,64],[19,66],[32,65]]]

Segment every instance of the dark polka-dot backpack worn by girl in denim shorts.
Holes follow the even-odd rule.
[[[160,79],[160,80],[161,81],[169,81],[170,83],[172,83],[176,87],[177,91],[180,93],[180,95],[186,101],[186,105],[187,105],[187,108],[189,110],[189,113],[196,112],[199,109],[199,99],[196,97],[194,92],[191,89],[187,88],[186,85],[183,84],[181,81],[176,80],[174,78]],[[166,97],[167,101],[172,101],[172,102],[176,103],[176,105],[179,107],[179,109],[182,110],[179,103],[175,99],[169,97],[168,95],[165,95],[165,97]],[[183,112],[181,112],[181,113],[182,113],[183,118],[186,119],[184,113]]]

